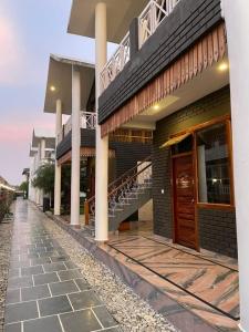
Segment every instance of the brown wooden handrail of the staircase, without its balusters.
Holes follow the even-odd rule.
[[[148,162],[148,160],[152,160],[152,155],[149,155],[148,157],[146,157],[144,160],[142,160],[141,163],[138,163],[136,166],[132,167],[131,169],[126,170],[124,174],[122,174],[117,179],[115,179],[114,181],[112,181],[110,185],[108,185],[108,191],[110,189],[116,185],[118,181],[122,181],[123,178],[126,178],[128,176],[128,174],[131,174],[132,172],[134,170],[137,170],[137,168],[143,165],[144,163]],[[148,165],[148,167],[152,166],[152,163]],[[147,168],[147,167],[146,167]],[[142,172],[145,170],[145,169],[142,169]],[[141,172],[139,172],[141,174]],[[135,176],[137,176],[138,174],[136,173]],[[116,188],[120,188],[122,186],[122,184],[127,184],[127,180],[129,180],[132,177],[128,177],[126,178],[124,181],[121,183],[120,186],[117,187],[114,187],[113,190],[111,190],[111,193],[108,193],[107,197],[110,197],[113,191],[116,189]],[[91,198],[86,199],[85,203],[84,203],[84,212],[85,212],[85,225],[89,225],[89,221],[90,221],[90,206],[91,204],[95,200],[95,195],[92,196]]]

